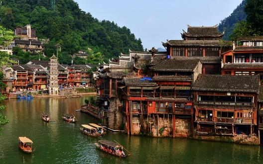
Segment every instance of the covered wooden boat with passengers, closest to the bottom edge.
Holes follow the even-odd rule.
[[[108,140],[100,140],[98,141],[98,143],[95,143],[95,145],[98,149],[120,158],[129,157],[132,155],[129,151],[127,151],[122,145],[120,145],[117,142],[114,143]],[[124,150],[126,150],[126,153],[124,152]]]

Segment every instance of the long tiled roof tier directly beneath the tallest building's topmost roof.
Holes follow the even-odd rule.
[[[232,42],[229,41],[229,46],[232,45]],[[170,46],[217,46],[220,47],[226,44],[226,42],[220,42],[219,40],[167,40],[167,43],[162,43],[164,47],[167,45]]]

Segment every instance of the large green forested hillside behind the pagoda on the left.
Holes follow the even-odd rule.
[[[45,44],[47,58],[43,60],[56,53],[55,45],[60,44],[62,64],[70,64],[69,55],[79,50],[90,55],[87,61],[74,59],[76,64],[97,64],[100,60],[107,63],[109,58],[129,53],[129,49],[143,51],[141,40],[129,28],[108,20],[99,21],[82,11],[74,0],[55,0],[55,5],[52,4],[50,0],[1,0],[0,25],[14,29],[31,24],[38,39],[49,39]],[[28,56],[26,60],[31,58]]]

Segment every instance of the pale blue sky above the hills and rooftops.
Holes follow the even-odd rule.
[[[126,26],[143,49],[162,48],[167,40],[182,40],[190,26],[214,26],[231,15],[243,0],[74,0],[98,20]],[[132,50],[136,51],[136,50]]]

